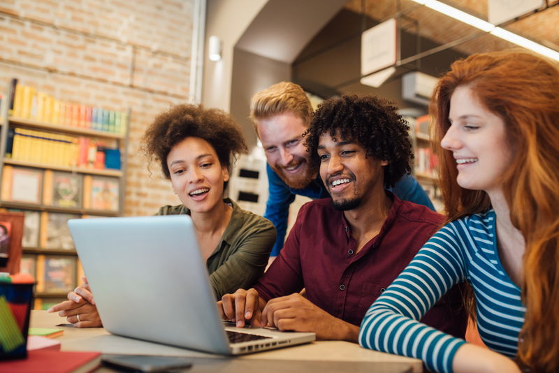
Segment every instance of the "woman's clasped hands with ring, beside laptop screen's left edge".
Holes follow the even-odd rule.
[[[59,316],[66,317],[68,323],[77,328],[103,326],[87,278],[82,277],[82,281],[82,286],[68,293],[68,300],[50,307],[48,312],[58,312]]]

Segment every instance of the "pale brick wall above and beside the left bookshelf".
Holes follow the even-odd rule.
[[[138,144],[155,115],[189,98],[194,0],[2,0],[0,90],[11,78],[61,100],[131,109],[125,215],[179,203]]]

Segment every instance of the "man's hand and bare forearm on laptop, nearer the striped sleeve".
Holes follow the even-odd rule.
[[[359,327],[328,314],[300,293],[274,298],[262,310],[262,324],[279,330],[314,332],[317,339],[357,342]]]

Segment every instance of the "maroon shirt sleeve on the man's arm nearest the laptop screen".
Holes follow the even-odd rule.
[[[285,240],[284,248],[254,286],[266,302],[272,298],[297,293],[303,289],[299,235],[300,221],[305,219],[303,216],[305,211],[306,207],[303,205],[298,212],[297,221],[293,224],[293,228],[291,228],[287,240]]]

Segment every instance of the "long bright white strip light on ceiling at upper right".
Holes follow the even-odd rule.
[[[492,23],[481,20],[481,18],[474,17],[473,15],[465,13],[462,10],[458,10],[452,6],[442,3],[441,1],[437,1],[437,0],[413,0],[413,1],[415,1],[416,3],[420,3],[421,5],[424,5],[433,10],[436,10],[439,13],[448,15],[449,17],[452,17],[455,20],[459,20],[460,22],[464,22],[465,24],[470,24],[470,26],[486,31],[494,36],[497,36],[498,38],[502,38],[506,41],[509,41],[510,43],[520,45],[521,47],[525,47],[526,49],[532,50],[536,53],[543,54],[546,57],[559,61],[559,52],[557,52],[556,50],[552,50],[549,47],[544,47],[544,45],[530,41],[527,38],[523,38],[518,34],[514,34],[500,27],[495,27],[495,25]]]

